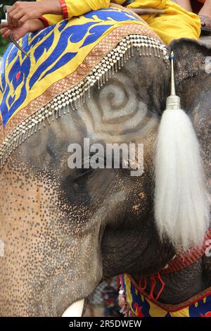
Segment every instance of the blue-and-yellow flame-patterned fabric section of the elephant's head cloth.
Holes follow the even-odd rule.
[[[53,83],[74,73],[106,35],[127,24],[146,25],[129,11],[102,9],[26,35],[20,44],[30,57],[11,44],[1,60],[0,111],[4,127]]]

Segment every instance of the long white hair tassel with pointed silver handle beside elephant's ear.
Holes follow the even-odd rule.
[[[162,114],[155,145],[155,221],[160,237],[179,249],[201,245],[209,226],[208,194],[200,145],[188,115],[172,93]]]

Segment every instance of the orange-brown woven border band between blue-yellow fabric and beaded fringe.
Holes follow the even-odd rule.
[[[158,35],[156,35],[156,33],[153,32],[153,30],[151,30],[147,25],[127,24],[117,27],[106,37],[104,37],[103,40],[94,47],[94,49],[91,50],[88,56],[84,58],[84,61],[73,73],[70,73],[69,75],[63,77],[61,80],[53,83],[53,85],[47,88],[43,94],[30,101],[30,103],[22,108],[21,111],[15,113],[15,115],[6,124],[6,127],[1,125],[0,117],[0,146],[5,137],[8,137],[8,135],[11,134],[15,127],[22,123],[23,120],[32,115],[32,113],[39,111],[41,107],[44,107],[46,104],[48,104],[53,98],[55,98],[55,96],[68,91],[68,89],[75,87],[77,84],[79,84],[79,82],[84,80],[87,75],[89,75],[91,70],[95,68],[96,65],[98,65],[98,63],[103,59],[103,57],[110,51],[113,51],[113,49],[115,49],[115,47],[120,44],[122,39],[127,35],[145,35],[157,39],[163,44]]]

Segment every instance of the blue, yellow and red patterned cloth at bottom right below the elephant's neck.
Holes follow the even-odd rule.
[[[148,299],[129,275],[121,276],[129,304],[129,315],[136,317],[211,317],[211,288],[179,305],[165,305]]]

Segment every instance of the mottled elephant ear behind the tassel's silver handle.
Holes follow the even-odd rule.
[[[211,48],[191,39],[174,40],[175,81],[181,106],[193,113],[198,104],[211,108]]]

